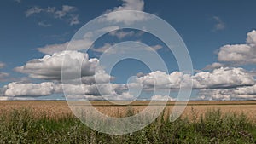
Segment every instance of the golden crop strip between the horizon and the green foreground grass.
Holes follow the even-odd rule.
[[[115,101],[124,103],[124,101]],[[126,101],[125,101],[126,102]],[[112,117],[124,116],[127,107],[132,107],[134,112],[143,111],[150,101],[133,101],[129,105],[117,105],[109,101],[90,101],[90,104],[99,112],[107,114]],[[164,106],[166,104],[166,112],[172,112],[176,101],[153,101],[152,106]],[[68,103],[73,107],[89,107],[88,103],[84,101],[71,101]],[[34,112],[34,116],[38,117],[42,113],[47,114],[51,118],[60,118],[62,115],[72,114],[68,107],[67,101],[0,101],[0,114],[10,112],[14,109],[28,108]],[[179,101],[178,106],[185,105],[186,102]],[[223,113],[237,113],[245,114],[247,118],[256,122],[256,101],[189,101],[185,108],[182,117],[193,117],[193,115],[200,116],[209,109],[219,109]]]

